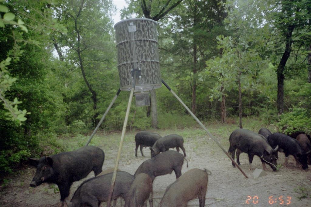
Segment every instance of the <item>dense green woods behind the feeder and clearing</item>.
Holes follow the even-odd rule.
[[[200,120],[310,134],[309,0],[127,2],[123,19],[158,22],[161,78]],[[0,0],[1,173],[95,128],[119,88],[115,11],[109,0]],[[156,111],[132,103],[129,130],[196,126],[165,87],[154,92]],[[122,128],[128,96],[101,129]]]

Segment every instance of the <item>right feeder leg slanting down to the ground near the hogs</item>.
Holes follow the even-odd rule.
[[[200,124],[200,126],[207,132],[207,134],[216,142],[216,144],[220,147],[222,151],[231,159],[231,161],[234,163],[234,165],[239,168],[241,173],[246,177],[247,175],[243,172],[243,170],[240,168],[240,166],[232,159],[232,157],[227,153],[227,151],[220,145],[220,143],[215,139],[214,136],[211,135],[211,133],[207,130],[207,128],[202,124],[202,122],[190,111],[190,109],[186,106],[186,104],[183,103],[183,101],[174,93],[174,91],[162,80],[162,83],[165,85],[165,87],[175,96],[177,100],[187,109],[187,111],[191,114],[191,116]]]

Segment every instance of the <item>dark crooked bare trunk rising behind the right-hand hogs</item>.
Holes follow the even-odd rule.
[[[286,35],[286,45],[285,51],[282,55],[281,61],[277,66],[276,74],[277,74],[277,110],[278,114],[283,113],[284,106],[284,68],[288,58],[290,57],[291,45],[292,45],[292,33],[294,30],[294,26],[288,27],[288,33]]]

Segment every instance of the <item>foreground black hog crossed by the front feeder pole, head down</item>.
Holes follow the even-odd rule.
[[[113,173],[108,173],[86,180],[77,188],[76,192],[72,196],[72,199],[70,201],[66,201],[66,205],[68,207],[84,207],[87,205],[99,207],[101,202],[107,202],[112,176]],[[114,184],[112,200],[115,200],[118,197],[126,199],[133,180],[134,176],[131,174],[124,171],[118,171]]]

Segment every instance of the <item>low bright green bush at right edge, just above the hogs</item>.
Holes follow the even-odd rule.
[[[311,113],[305,108],[294,106],[290,111],[283,113],[280,116],[280,121],[277,126],[282,129],[284,133],[291,133],[294,131],[304,131],[307,134],[311,133]]]

